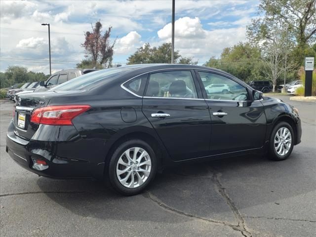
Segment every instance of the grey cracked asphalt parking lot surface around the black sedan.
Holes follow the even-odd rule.
[[[299,110],[302,143],[290,158],[247,156],[164,170],[142,195],[92,180],[53,180],[5,152],[13,103],[0,103],[1,237],[315,237],[316,103]]]

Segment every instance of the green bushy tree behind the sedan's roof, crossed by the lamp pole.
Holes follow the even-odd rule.
[[[158,48],[151,47],[149,43],[137,49],[137,51],[128,57],[127,64],[142,64],[142,63],[170,63],[171,62],[171,43],[163,43]],[[174,52],[174,61],[182,64],[197,64],[192,62],[192,58],[185,58],[179,54],[179,51]]]

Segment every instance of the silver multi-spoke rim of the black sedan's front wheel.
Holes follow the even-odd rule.
[[[287,127],[280,127],[275,135],[275,150],[279,156],[285,156],[291,149],[292,135]]]

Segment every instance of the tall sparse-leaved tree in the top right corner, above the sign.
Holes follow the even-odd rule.
[[[247,26],[248,39],[260,42],[269,37],[272,28],[290,27],[289,40],[295,45],[291,58],[297,67],[302,65],[306,48],[316,40],[316,0],[261,0],[262,13],[263,17]]]

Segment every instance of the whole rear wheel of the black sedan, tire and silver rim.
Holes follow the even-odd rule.
[[[141,193],[156,174],[156,155],[152,147],[139,139],[122,143],[109,163],[109,179],[123,195]]]

